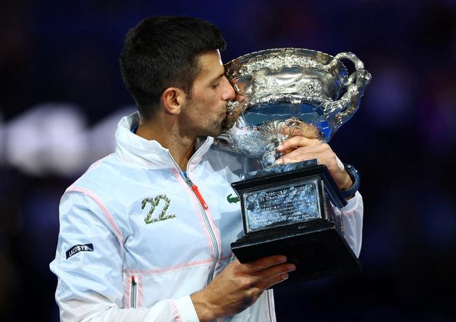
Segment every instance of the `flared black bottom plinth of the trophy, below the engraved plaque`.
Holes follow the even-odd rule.
[[[272,288],[361,270],[350,245],[336,230],[334,222],[327,220],[307,222],[302,229],[296,224],[287,229],[249,234],[231,243],[231,250],[241,263],[265,256],[287,256],[287,263],[294,263],[296,270]]]

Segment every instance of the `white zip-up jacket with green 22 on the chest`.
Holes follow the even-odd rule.
[[[242,236],[231,182],[242,156],[204,141],[187,175],[169,150],[131,132],[139,114],[117,128],[115,153],[91,165],[61,199],[55,260],[62,321],[198,321],[190,294],[205,288],[233,259]],[[343,208],[345,239],[361,250],[361,195]],[[272,290],[236,316],[219,321],[275,321]]]

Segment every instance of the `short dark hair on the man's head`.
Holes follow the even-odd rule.
[[[197,55],[225,46],[218,28],[191,17],[149,17],[132,28],[120,54],[120,69],[142,117],[153,117],[169,87],[191,96],[200,71]]]

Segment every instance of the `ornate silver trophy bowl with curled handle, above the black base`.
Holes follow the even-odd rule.
[[[354,63],[352,74],[342,59]],[[225,130],[216,143],[249,157],[263,157],[271,150],[268,145],[278,145],[296,130],[330,141],[358,110],[370,81],[363,63],[350,52],[332,57],[300,48],[246,54],[226,63],[225,74],[236,101],[229,103]],[[274,161],[269,158],[265,166]]]

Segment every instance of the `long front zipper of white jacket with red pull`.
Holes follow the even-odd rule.
[[[202,148],[202,147],[200,147],[200,148]],[[184,175],[182,173],[182,170],[180,170],[179,165],[177,163],[175,163],[171,154],[169,152],[168,152],[168,154],[169,154],[169,157],[171,158],[171,160],[173,160],[175,167],[178,169],[178,171],[180,173],[180,177],[182,177],[182,179],[184,179],[184,181],[187,183],[188,187],[190,188],[191,192],[193,192],[193,195],[196,197],[196,199],[198,199],[198,201],[199,201],[198,204],[200,206],[200,212],[202,214],[203,220],[205,221],[207,232],[209,232],[209,237],[211,239],[211,243],[212,243],[212,247],[213,247],[213,262],[211,264],[211,268],[209,268],[209,275],[207,276],[207,284],[206,284],[206,285],[209,285],[209,283],[211,283],[211,281],[213,280],[213,274],[216,270],[216,264],[220,257],[220,253],[218,252],[218,244],[217,244],[216,235],[212,230],[211,224],[209,223],[209,218],[207,217],[207,214],[205,211],[205,209],[206,210],[208,209],[208,206],[207,206],[207,203],[205,202],[205,200],[202,199],[202,195],[200,194],[198,187],[195,184],[193,184],[193,182],[191,182],[190,178],[188,177],[188,173],[187,173],[187,176]],[[193,157],[195,157],[195,154],[196,153],[194,153],[191,156],[191,158],[189,159],[189,162],[187,163],[187,168],[189,168],[189,164],[191,163],[191,160],[193,159]],[[192,187],[195,187],[195,188],[192,188]]]

